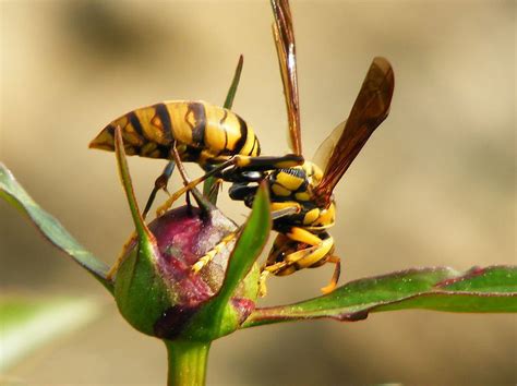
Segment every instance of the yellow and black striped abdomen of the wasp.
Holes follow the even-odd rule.
[[[103,129],[89,147],[113,152],[116,126],[129,155],[170,158],[173,142],[183,160],[200,164],[260,155],[258,140],[242,118],[204,101],[173,100],[130,111]]]

